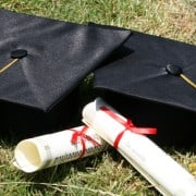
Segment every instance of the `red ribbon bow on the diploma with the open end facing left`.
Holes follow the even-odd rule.
[[[85,139],[90,140],[95,146],[100,146],[100,144],[95,140],[94,138],[91,138],[89,135],[86,135],[86,131],[88,130],[88,126],[84,126],[81,131],[77,130],[73,130],[71,128],[71,131],[73,131],[73,135],[72,135],[72,144],[76,144],[77,143],[77,138],[81,138],[81,143],[82,143],[82,152],[79,158],[82,158],[85,155],[86,151],[86,145],[85,145]]]

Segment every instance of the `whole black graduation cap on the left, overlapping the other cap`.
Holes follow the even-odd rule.
[[[130,35],[0,10],[0,133],[69,123],[81,81]]]

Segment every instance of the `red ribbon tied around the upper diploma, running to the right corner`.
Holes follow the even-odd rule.
[[[126,119],[124,121],[122,118],[120,118],[117,113],[114,113],[112,110],[110,110],[107,107],[100,107],[100,110],[109,114],[111,118],[113,118],[115,121],[118,121],[120,124],[124,126],[124,130],[117,136],[113,147],[118,149],[119,143],[124,134],[125,131],[131,131],[136,134],[142,134],[142,135],[149,135],[149,134],[157,134],[157,128],[152,127],[136,127],[131,119]]]

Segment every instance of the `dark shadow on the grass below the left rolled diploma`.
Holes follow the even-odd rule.
[[[84,187],[86,180],[78,177],[78,173],[88,173],[95,170],[101,162],[101,154],[77,159],[72,162],[62,163],[35,173],[21,173],[21,180],[27,183],[28,192],[34,193],[59,193],[54,187],[59,187],[64,193],[72,186]],[[29,184],[28,184],[29,183]],[[78,191],[78,189],[77,189]]]

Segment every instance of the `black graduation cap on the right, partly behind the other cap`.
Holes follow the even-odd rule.
[[[196,143],[196,47],[132,30],[117,54],[95,72],[94,87],[134,124],[157,127],[156,143]]]

